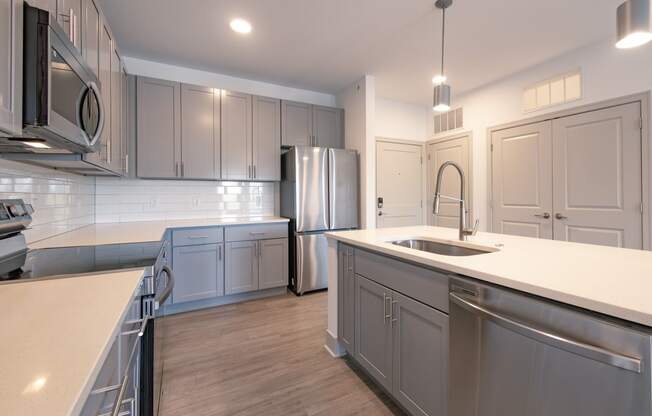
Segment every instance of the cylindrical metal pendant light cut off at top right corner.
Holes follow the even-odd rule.
[[[617,12],[619,49],[630,49],[652,40],[650,0],[627,0]]]

